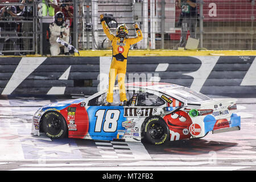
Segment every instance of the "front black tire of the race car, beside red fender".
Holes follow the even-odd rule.
[[[50,138],[65,138],[68,135],[68,127],[60,113],[49,111],[42,117],[41,125],[44,133]]]

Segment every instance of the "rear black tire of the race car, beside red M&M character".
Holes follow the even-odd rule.
[[[166,122],[160,117],[148,118],[144,127],[144,138],[155,145],[167,142],[170,133]]]

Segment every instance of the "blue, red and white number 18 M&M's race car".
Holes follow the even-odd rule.
[[[128,142],[143,139],[159,145],[241,127],[234,98],[212,99],[166,82],[130,82],[126,94],[125,106],[120,105],[118,87],[110,106],[105,106],[106,90],[43,106],[32,117],[32,134]]]

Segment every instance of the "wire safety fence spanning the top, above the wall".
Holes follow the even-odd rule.
[[[110,17],[112,32],[126,23],[129,36],[135,36],[132,24],[139,24],[143,40],[131,49],[256,49],[254,0],[199,0],[193,5],[186,0],[51,1],[0,2],[0,55],[50,55],[49,23],[57,11],[64,13],[71,44],[80,50],[111,49],[100,14]],[[48,8],[52,4],[53,10]],[[13,7],[16,16],[10,13]],[[193,15],[184,14],[188,11]]]

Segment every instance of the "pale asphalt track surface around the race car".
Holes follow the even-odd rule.
[[[256,170],[256,98],[238,98],[240,131],[209,133],[162,146],[32,137],[32,115],[40,106],[56,101],[40,97],[0,100],[1,171]]]

